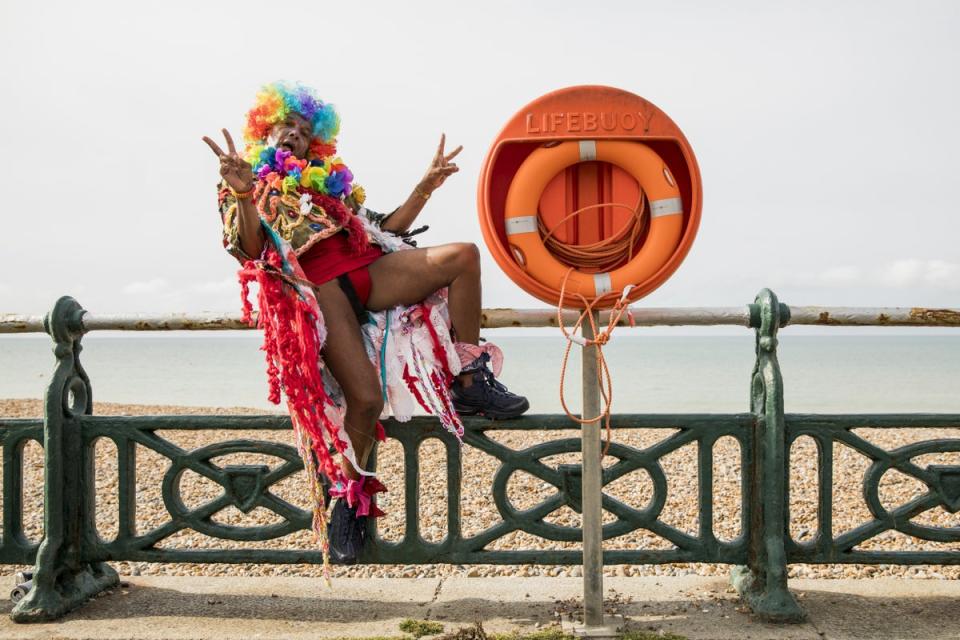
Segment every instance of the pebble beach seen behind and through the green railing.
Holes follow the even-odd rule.
[[[35,399],[0,400],[0,417],[35,418],[42,415],[42,402]],[[200,414],[263,414],[252,408],[204,408],[163,405],[134,405],[94,403],[98,415],[200,415]],[[177,446],[190,450],[213,442],[235,439],[231,431],[180,431],[157,432]],[[616,442],[644,448],[667,437],[670,430],[619,430],[614,432]],[[937,437],[960,437],[958,430],[858,430],[858,435],[873,444],[892,449],[920,440]],[[491,437],[513,449],[523,449],[543,442],[548,438],[579,437],[576,430],[561,432],[491,432]],[[293,445],[292,433],[284,431],[245,431],[243,438],[282,442]],[[545,458],[545,464],[556,465],[578,462],[578,454],[564,454]],[[841,533],[872,519],[862,498],[862,477],[869,466],[868,460],[852,449],[836,445],[834,450],[834,531]],[[668,482],[666,506],[661,520],[677,529],[696,535],[698,523],[696,444],[686,445],[661,460]],[[741,531],[739,445],[732,438],[723,438],[714,452],[714,522],[713,528],[721,540],[735,538]],[[936,454],[917,460],[922,464],[957,464],[958,454]],[[232,454],[215,460],[217,464],[270,464],[279,463],[276,458],[255,454]],[[609,465],[615,459],[608,458]],[[421,449],[421,532],[430,541],[440,541],[445,536],[446,489],[444,482],[445,453],[437,441],[426,442]],[[816,514],[816,449],[812,441],[801,438],[791,450],[790,483],[790,530],[797,541],[805,541],[815,535]],[[161,480],[169,461],[160,454],[144,447],[137,450],[137,526],[143,534],[168,520],[160,497]],[[490,496],[493,474],[499,461],[485,453],[467,447],[463,453],[463,488],[461,516],[464,535],[472,536],[500,521],[499,513]],[[400,446],[387,441],[378,449],[378,473],[389,491],[381,494],[378,504],[387,512],[379,522],[380,535],[387,540],[399,540],[403,536],[403,465]],[[101,441],[96,447],[97,526],[104,539],[112,539],[117,533],[117,459],[113,444]],[[309,499],[304,490],[302,474],[286,478],[274,485],[271,491],[278,497],[308,509]],[[192,471],[183,475],[182,498],[188,506],[196,506],[222,493],[222,488]],[[646,472],[636,472],[608,485],[606,491],[622,502],[635,508],[643,508],[652,497],[652,483]],[[921,495],[926,487],[918,481],[897,472],[887,473],[880,487],[881,501],[887,508],[909,501]],[[39,445],[31,443],[24,450],[24,529],[34,541],[43,534],[43,459]],[[552,485],[528,476],[523,472],[513,475],[508,484],[508,497],[516,508],[529,508],[555,492]],[[579,514],[567,507],[554,511],[547,521],[565,526],[579,526]],[[214,519],[223,524],[254,526],[280,522],[272,511],[256,508],[243,514],[228,507]],[[604,522],[614,517],[604,512]],[[960,517],[935,508],[914,519],[914,522],[937,527],[960,526]],[[298,531],[288,536],[266,542],[240,543],[217,540],[194,531],[183,530],[163,540],[158,546],[166,548],[274,548],[313,549],[316,544],[309,531]],[[605,549],[629,548],[668,549],[666,540],[645,530],[607,540]],[[896,532],[887,532],[867,541],[862,548],[876,550],[957,550],[957,543],[934,543],[909,538]],[[496,540],[490,549],[577,549],[579,543],[561,543],[542,540],[525,532],[514,532]],[[260,565],[260,564],[178,564],[178,563],[112,563],[123,575],[202,575],[202,576],[320,576],[321,567],[312,564]],[[23,567],[6,566],[5,573]],[[361,565],[334,567],[333,576],[338,577],[438,577],[438,576],[579,576],[580,567],[551,565]],[[713,564],[664,564],[664,565],[612,565],[605,568],[610,576],[647,575],[703,575],[725,576],[726,565]],[[880,576],[904,576],[911,578],[958,578],[960,567],[952,566],[897,566],[897,565],[791,565],[791,577],[804,578],[863,578]]]

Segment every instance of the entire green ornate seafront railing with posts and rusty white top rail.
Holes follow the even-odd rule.
[[[544,326],[555,322],[550,312],[490,310],[484,324],[491,326]],[[790,308],[763,290],[753,304],[722,309],[647,309],[635,314],[637,324],[735,324],[756,334],[756,363],[751,379],[748,413],[615,415],[617,430],[665,429],[665,437],[647,448],[614,442],[609,454],[616,462],[602,469],[601,485],[645,471],[653,486],[653,498],[642,509],[602,494],[602,508],[616,520],[602,526],[602,538],[610,540],[643,529],[669,541],[672,549],[610,549],[603,551],[605,564],[653,564],[707,562],[736,565],[733,582],[753,610],[767,619],[796,621],[803,612],[787,589],[787,565],[806,563],[960,564],[960,552],[879,552],[857,546],[879,533],[896,530],[924,540],[960,541],[960,528],[932,528],[911,522],[925,510],[941,506],[951,513],[960,509],[960,466],[923,467],[913,460],[920,455],[960,451],[960,439],[935,439],[888,451],[853,433],[871,428],[960,427],[960,415],[785,415],[783,380],[777,362],[777,332],[791,324],[960,326],[960,313],[931,309],[826,309]],[[0,316],[0,332],[40,330],[40,320]],[[300,457],[292,445],[236,439],[186,450],[162,437],[158,431],[289,430],[289,418],[281,416],[94,416],[90,380],[80,364],[81,339],[93,329],[234,329],[235,318],[116,318],[97,317],[84,311],[72,298],[61,298],[43,319],[42,328],[54,341],[56,369],[47,388],[45,417],[0,418],[3,456],[3,537],[0,562],[33,564],[33,588],[11,613],[17,622],[50,620],[79,606],[103,589],[117,584],[110,561],[312,563],[320,562],[319,550],[185,549],[157,545],[183,529],[193,529],[213,538],[232,541],[265,541],[309,529],[310,513],[281,499],[270,488],[302,472]],[[429,417],[404,424],[385,421],[387,437],[403,450],[406,485],[405,533],[397,542],[382,539],[373,522],[371,544],[363,551],[363,563],[455,563],[455,564],[578,564],[585,560],[580,550],[489,549],[498,539],[515,531],[562,541],[584,538],[581,528],[545,521],[553,511],[567,506],[580,513],[589,496],[584,495],[579,464],[551,466],[544,459],[581,451],[580,438],[551,440],[522,450],[504,446],[488,431],[557,431],[577,428],[566,416],[532,415],[491,423],[465,420],[465,446],[498,459],[491,497],[500,522],[474,535],[464,535],[460,518],[461,484],[465,471],[461,448]],[[819,525],[814,539],[795,542],[789,522],[789,450],[794,440],[810,436],[818,448]],[[741,484],[741,532],[733,540],[720,540],[713,530],[714,448],[720,438],[739,443]],[[118,463],[118,534],[105,541],[97,532],[95,516],[94,446],[106,438],[116,446]],[[437,439],[446,450],[447,536],[441,542],[425,540],[419,530],[418,452],[421,443]],[[39,545],[24,534],[22,485],[23,449],[36,441],[44,449],[44,532]],[[874,520],[836,536],[832,530],[832,448],[840,442],[863,453],[872,465],[863,478],[864,496]],[[697,446],[697,495],[699,525],[696,535],[670,526],[661,518],[671,487],[660,461],[679,448]],[[169,460],[161,487],[169,520],[150,531],[138,533],[136,503],[137,446]],[[226,454],[250,452],[273,456],[276,466],[218,466],[212,459]],[[372,455],[376,464],[376,450]],[[895,469],[924,483],[929,491],[892,511],[878,498],[884,473]],[[193,471],[219,485],[223,492],[204,504],[188,507],[180,495],[180,479]],[[556,488],[557,492],[530,508],[518,509],[509,499],[507,485],[513,474],[526,472]],[[585,484],[584,484],[585,486]],[[273,511],[281,522],[256,527],[218,523],[212,517],[235,506],[248,513],[261,507]],[[372,520],[372,519],[371,519]]]

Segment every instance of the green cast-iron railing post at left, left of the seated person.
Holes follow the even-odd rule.
[[[16,622],[56,619],[119,583],[103,562],[84,562],[84,519],[92,517],[93,477],[85,460],[79,417],[93,411],[90,380],[80,366],[83,309],[68,296],[44,318],[57,365],[44,397],[44,538],[33,588],[10,617]]]

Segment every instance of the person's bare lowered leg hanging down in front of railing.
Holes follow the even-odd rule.
[[[366,468],[367,456],[376,440],[377,420],[383,409],[380,378],[367,357],[360,323],[340,285],[331,280],[314,291],[327,327],[323,359],[343,389],[347,403],[344,426],[353,443],[357,462]],[[348,478],[360,478],[346,457],[341,466]]]

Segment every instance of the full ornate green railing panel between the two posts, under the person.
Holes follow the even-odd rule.
[[[470,418],[465,424],[464,446],[474,447],[499,461],[490,499],[497,508],[501,521],[485,530],[464,536],[460,516],[460,499],[463,468],[462,450],[456,439],[444,432],[436,421],[416,417],[408,423],[385,421],[387,437],[400,443],[403,449],[404,477],[409,478],[405,492],[405,533],[402,540],[390,542],[376,535],[372,544],[364,549],[361,562],[377,564],[574,564],[581,562],[577,550],[490,550],[487,547],[514,531],[525,531],[547,540],[565,542],[581,541],[579,528],[557,525],[544,521],[555,510],[568,506],[576,512],[581,509],[580,465],[561,464],[549,466],[541,460],[564,453],[579,453],[580,440],[566,438],[549,440],[521,450],[512,449],[487,435],[488,431],[537,431],[550,432],[569,430],[565,416],[526,416],[519,420],[491,423]],[[643,509],[636,509],[617,498],[604,495],[603,508],[617,520],[603,528],[605,540],[615,540],[638,529],[646,529],[668,540],[673,549],[608,549],[605,559],[616,564],[652,564],[667,562],[725,562],[739,563],[746,560],[746,533],[742,531],[735,540],[723,542],[713,532],[713,448],[718,439],[730,436],[740,443],[742,469],[749,468],[749,434],[753,423],[751,414],[731,416],[714,415],[618,415],[613,418],[612,428],[617,432],[628,429],[658,429],[675,431],[654,445],[638,449],[614,442],[610,455],[617,462],[604,469],[604,486],[638,470],[646,471],[653,480],[654,495]],[[309,529],[310,513],[270,491],[270,487],[294,473],[303,471],[296,449],[292,445],[249,439],[228,440],[185,450],[157,431],[189,430],[290,430],[289,418],[280,416],[84,416],[81,419],[84,443],[86,475],[92,477],[94,465],[93,445],[101,438],[109,438],[116,445],[118,467],[119,531],[115,539],[99,538],[92,521],[84,529],[84,557],[96,561],[142,561],[142,562],[262,562],[303,563],[320,562],[319,550],[304,549],[173,549],[157,545],[164,539],[192,529],[201,534],[223,540],[266,541],[286,536],[294,531]],[[445,482],[447,494],[447,535],[441,542],[424,540],[420,531],[418,483],[420,445],[437,439],[446,449]],[[681,447],[697,445],[699,497],[698,535],[691,536],[658,518],[670,490],[659,460]],[[136,459],[135,446],[146,447],[169,460],[162,483],[162,500],[169,520],[141,535],[134,533],[136,521]],[[212,458],[231,453],[253,453],[282,460],[275,466],[226,465],[220,467],[210,462]],[[373,457],[376,465],[376,454]],[[204,504],[188,508],[180,496],[180,479],[184,471],[191,470],[219,485],[221,494]],[[554,496],[527,509],[515,507],[507,495],[511,476],[525,471],[534,478],[543,480],[556,489]],[[304,483],[306,478],[304,478]],[[741,474],[741,482],[745,475]],[[92,505],[95,497],[89,485],[87,500]],[[677,490],[677,487],[673,487]],[[683,487],[683,490],[688,490]],[[749,487],[741,489],[744,515],[741,522],[749,520]],[[273,511],[283,522],[268,526],[237,527],[216,523],[213,516],[220,510],[234,506],[243,513],[256,507]],[[93,508],[86,512],[92,513]]]

